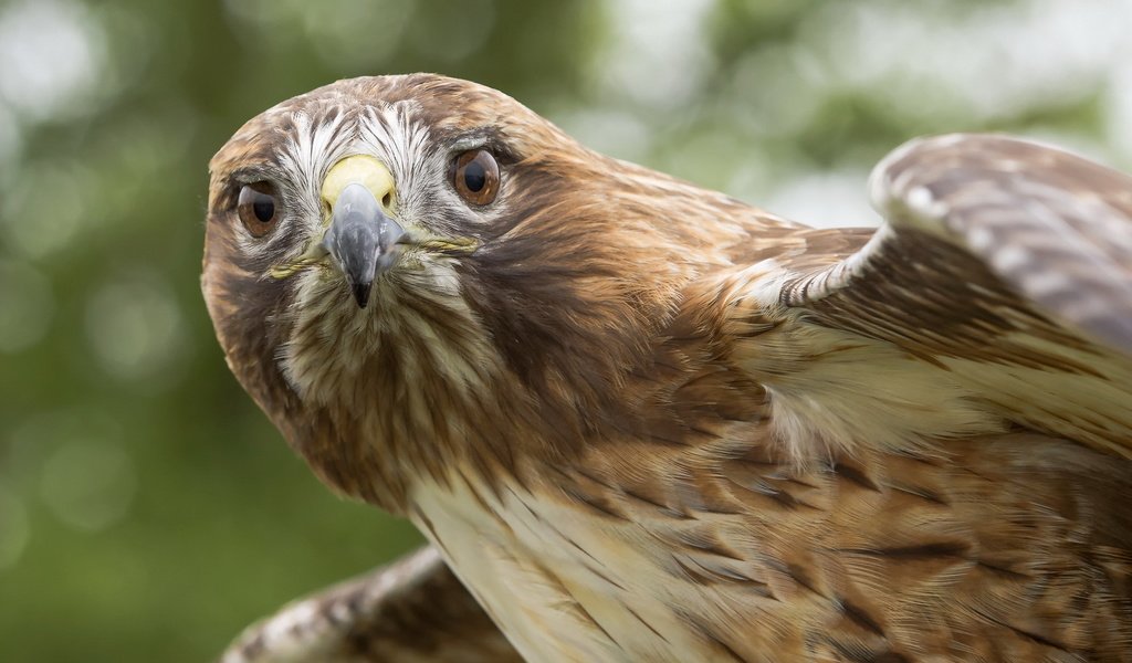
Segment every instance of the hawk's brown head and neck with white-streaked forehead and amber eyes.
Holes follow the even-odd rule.
[[[358,492],[327,464],[522,425],[561,447],[624,419],[617,390],[680,284],[721,259],[702,247],[744,234],[697,221],[728,206],[490,88],[344,80],[213,158],[203,287],[245,388]]]

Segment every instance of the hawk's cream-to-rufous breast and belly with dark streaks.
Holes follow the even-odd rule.
[[[1015,434],[795,472],[757,450],[625,449],[555,473],[554,491],[457,490],[444,510],[470,532],[427,531],[529,660],[1118,661],[1132,557],[1113,532],[1132,523],[1082,516],[1132,487],[1074,451]],[[524,600],[499,578],[523,578]]]

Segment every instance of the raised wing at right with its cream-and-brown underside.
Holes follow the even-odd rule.
[[[740,364],[805,457],[1023,427],[1132,456],[1132,178],[998,136],[915,140],[872,178],[886,223],[833,261],[729,277]]]

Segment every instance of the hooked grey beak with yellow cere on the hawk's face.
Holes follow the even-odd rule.
[[[348,156],[326,173],[323,199],[331,209],[323,247],[345,275],[358,308],[365,309],[374,278],[396,260],[397,241],[405,234],[389,217],[393,175],[371,156]]]

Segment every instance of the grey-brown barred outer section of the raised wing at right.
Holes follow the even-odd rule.
[[[1048,315],[1132,353],[1132,178],[997,136],[910,143],[874,172],[898,226],[944,234]]]

